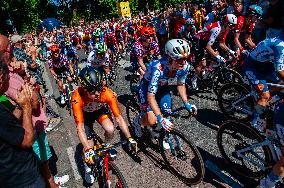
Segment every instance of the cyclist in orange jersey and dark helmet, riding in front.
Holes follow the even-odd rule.
[[[77,133],[83,144],[85,180],[88,183],[94,182],[94,176],[88,164],[94,164],[96,154],[93,150],[93,123],[97,121],[105,130],[105,144],[110,145],[114,137],[114,125],[110,120],[109,108],[118,123],[122,133],[128,139],[129,147],[136,150],[137,143],[131,138],[128,126],[121,116],[118,102],[114,92],[104,86],[102,72],[94,67],[85,67],[79,73],[80,87],[78,87],[71,98],[72,109]],[[116,151],[110,151],[111,157],[114,157]]]

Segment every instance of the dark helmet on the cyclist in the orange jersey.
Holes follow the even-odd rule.
[[[102,72],[94,67],[84,67],[78,76],[80,84],[87,88],[88,91],[98,91],[102,87]]]

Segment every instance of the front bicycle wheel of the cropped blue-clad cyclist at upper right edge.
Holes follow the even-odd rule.
[[[234,97],[232,100],[231,98],[225,99],[234,91],[236,91],[238,94],[237,98]],[[254,109],[254,98],[250,96],[249,93],[250,93],[249,90],[241,84],[238,83],[225,84],[217,94],[218,105],[220,107],[221,112],[230,119],[235,119],[244,122],[250,121]],[[232,95],[230,95],[230,97],[231,96]],[[246,98],[243,99],[241,105],[237,106],[238,109],[232,106],[235,101],[241,99],[244,96],[246,96]]]

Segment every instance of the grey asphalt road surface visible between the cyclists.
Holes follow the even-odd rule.
[[[80,55],[83,57],[83,55]],[[129,63],[120,62],[118,68],[118,79],[112,89],[118,94],[119,106],[123,117],[126,119],[125,103],[130,98],[129,82],[126,80]],[[56,87],[53,87],[56,88]],[[54,92],[56,93],[56,92]],[[225,121],[217,107],[214,94],[198,93],[190,95],[189,99],[198,107],[198,115],[191,118],[182,118],[176,127],[189,136],[198,147],[206,164],[204,180],[192,187],[251,187],[251,180],[239,177],[233,173],[229,166],[224,163],[217,147],[216,134],[218,126]],[[174,108],[182,106],[179,97],[173,97]],[[50,146],[54,156],[50,161],[53,174],[58,176],[69,174],[70,180],[67,187],[84,187],[83,167],[81,160],[82,145],[76,133],[76,126],[73,117],[64,108],[59,108],[63,123],[48,133]],[[103,138],[103,131],[100,125],[96,124],[95,132]],[[119,134],[116,134],[115,141],[119,141]],[[161,165],[162,157],[151,148],[140,151],[138,156],[141,162],[135,162],[121,148],[118,149],[115,164],[122,171],[130,188],[171,188],[187,187],[183,182],[171,174]],[[95,182],[92,187],[98,187]]]

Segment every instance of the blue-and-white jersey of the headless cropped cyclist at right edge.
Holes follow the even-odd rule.
[[[258,62],[273,62],[276,71],[283,71],[284,41],[279,37],[265,39],[258,43],[250,56]]]

